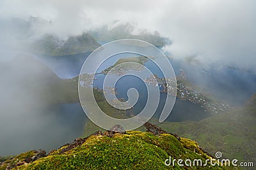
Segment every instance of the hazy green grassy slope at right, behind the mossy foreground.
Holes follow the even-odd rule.
[[[159,126],[200,143],[212,155],[222,152],[223,157],[256,162],[255,94],[243,108],[223,112],[200,122],[166,122]]]

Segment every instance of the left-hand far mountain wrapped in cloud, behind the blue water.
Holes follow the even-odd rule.
[[[52,22],[31,16],[29,20],[12,18],[0,20],[0,34],[6,41],[1,46],[15,50],[24,50],[42,55],[70,55],[75,53],[92,52],[100,45],[87,34],[61,35],[48,31]]]

